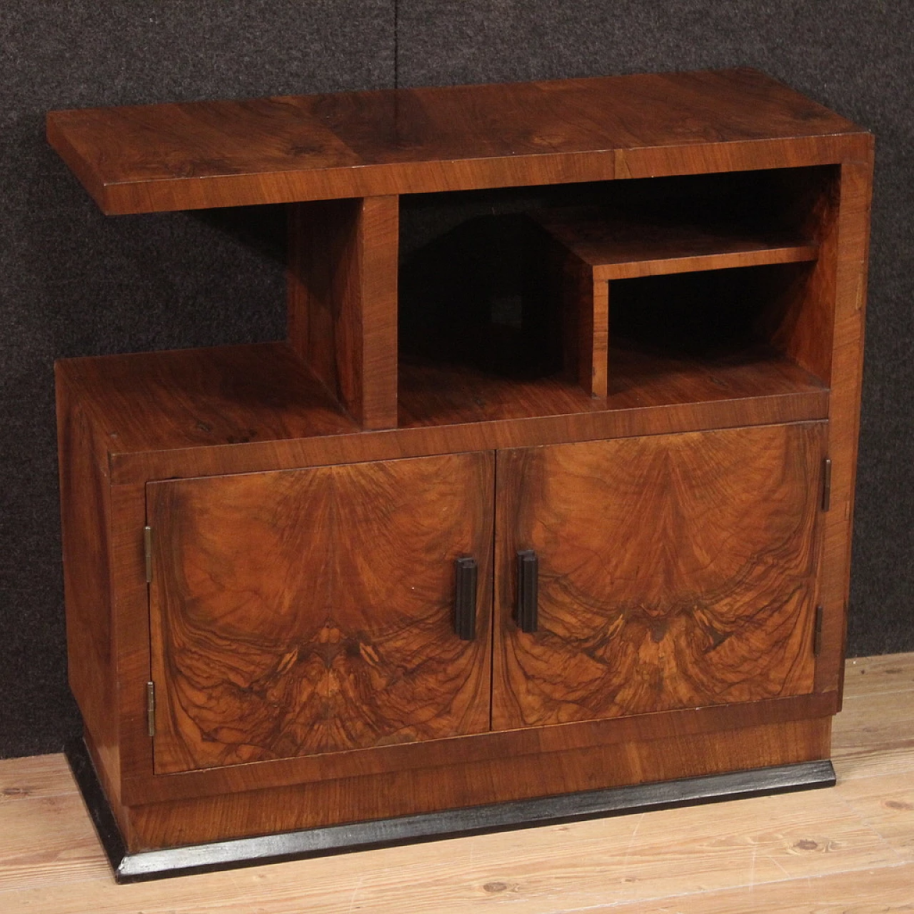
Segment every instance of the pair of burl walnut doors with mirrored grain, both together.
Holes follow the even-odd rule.
[[[812,693],[825,435],[150,482],[154,773]]]

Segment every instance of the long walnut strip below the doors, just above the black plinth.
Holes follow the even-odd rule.
[[[150,803],[130,810],[132,851],[269,834],[322,824],[359,822],[441,808],[520,800],[645,780],[670,781],[828,755],[831,717],[673,739],[637,740],[562,753],[484,762],[455,759],[440,768],[297,784],[271,791],[224,793]]]

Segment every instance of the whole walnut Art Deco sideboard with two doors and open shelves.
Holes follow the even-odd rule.
[[[869,133],[732,69],[48,139],[108,214],[288,209],[287,339],[57,364],[119,878],[834,778]]]

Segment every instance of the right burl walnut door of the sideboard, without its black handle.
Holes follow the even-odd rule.
[[[498,452],[493,727],[813,690],[824,422]],[[539,564],[518,629],[515,555]]]

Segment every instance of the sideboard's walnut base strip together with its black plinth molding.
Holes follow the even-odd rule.
[[[834,697],[785,699],[781,707],[747,712],[821,711]],[[692,712],[697,728],[685,712],[652,715],[667,718],[658,728],[683,731],[659,739],[122,808],[113,811],[121,813],[120,828],[89,740],[74,741],[68,758],[119,882],[834,784],[826,758],[831,717],[687,732],[713,727],[713,717],[726,722],[726,708],[708,717],[717,710]],[[579,736],[575,727],[569,736]],[[558,729],[567,728],[545,728]],[[545,730],[545,742],[560,738]]]

